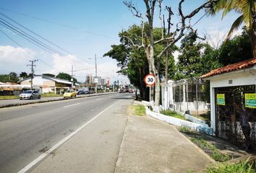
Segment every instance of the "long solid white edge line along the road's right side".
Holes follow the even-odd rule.
[[[23,169],[21,169],[19,172],[17,173],[25,173],[27,172],[29,169],[31,169],[32,167],[35,166],[35,164],[38,164],[38,162],[40,160],[42,160],[43,158],[45,158],[48,154],[50,154],[52,151],[54,151],[56,148],[58,148],[59,146],[61,146],[63,143],[67,142],[69,140],[69,138],[71,138],[72,136],[74,136],[77,132],[79,132],[80,130],[82,130],[82,128],[85,128],[85,126],[87,126],[88,124],[92,123],[93,120],[95,120],[98,116],[100,116],[103,112],[105,112],[106,110],[108,110],[109,108],[113,107],[114,105],[116,105],[116,103],[121,102],[121,100],[115,102],[113,105],[107,107],[105,110],[101,111],[98,115],[96,115],[95,117],[93,117],[92,119],[90,119],[87,123],[85,123],[84,125],[82,125],[80,128],[77,128],[77,130],[75,130],[74,132],[70,133],[69,136],[67,136],[66,138],[62,139],[61,141],[59,141],[59,143],[56,143],[53,147],[51,147],[48,151],[44,152],[43,154],[41,154],[40,156],[38,156],[38,158],[36,158],[34,161],[30,162],[30,164],[27,164],[26,167],[24,167]]]

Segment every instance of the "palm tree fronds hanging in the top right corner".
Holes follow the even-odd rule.
[[[227,39],[232,33],[244,23],[251,34],[252,54],[256,58],[256,1],[255,0],[219,0],[210,9],[209,13],[214,15],[223,10],[222,18],[234,10],[241,14],[232,24]]]

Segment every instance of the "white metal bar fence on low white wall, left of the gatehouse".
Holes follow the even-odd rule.
[[[168,81],[168,98],[163,99],[168,99],[167,107],[174,110],[190,115],[202,115],[210,110],[208,93],[210,93],[208,81],[182,79]]]

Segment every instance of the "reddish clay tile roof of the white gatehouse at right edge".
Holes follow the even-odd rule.
[[[210,71],[208,74],[204,74],[202,76],[200,76],[200,78],[207,78],[207,77],[210,77],[210,76],[214,76],[214,75],[217,75],[217,74],[224,74],[224,73],[227,73],[227,72],[230,72],[230,71],[236,71],[236,70],[240,70],[240,69],[243,69],[243,68],[248,68],[250,66],[254,66],[256,64],[256,58],[252,58],[252,59],[249,59],[249,60],[246,60],[246,61],[242,61],[242,62],[239,62],[239,63],[233,63],[233,64],[230,64],[228,66],[224,66],[224,67],[221,67],[221,68],[217,68],[217,69],[214,69],[212,71]]]

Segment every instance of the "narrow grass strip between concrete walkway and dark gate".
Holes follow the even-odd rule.
[[[209,153],[210,157],[213,158],[215,161],[224,162],[224,161],[229,161],[230,160],[228,155],[221,154],[221,152],[218,151],[216,146],[213,146],[212,144],[206,142],[204,139],[202,139],[202,138],[190,138],[190,140],[193,143],[197,144],[197,146],[202,148],[202,150]]]

